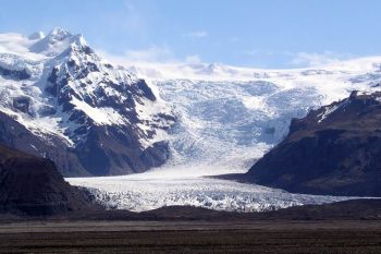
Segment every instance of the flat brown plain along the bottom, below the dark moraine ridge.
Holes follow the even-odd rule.
[[[0,253],[381,253],[381,221],[26,221]]]

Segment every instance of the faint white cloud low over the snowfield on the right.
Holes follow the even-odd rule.
[[[348,59],[351,56],[346,53],[336,53],[332,51],[317,52],[297,52],[291,60],[291,64],[298,66],[318,66],[339,62]]]

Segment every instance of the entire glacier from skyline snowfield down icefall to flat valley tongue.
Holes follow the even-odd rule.
[[[379,90],[381,58],[296,70],[223,64],[143,64],[130,68],[149,80],[179,118],[171,158],[145,173],[66,179],[85,186],[109,208],[142,211],[170,205],[262,211],[354,197],[291,194],[220,180],[246,172],[287,133],[292,118],[354,90]]]

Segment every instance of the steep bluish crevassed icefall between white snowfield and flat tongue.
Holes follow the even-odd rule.
[[[314,87],[262,81],[170,80],[156,85],[179,117],[167,166],[210,165],[216,174],[247,171],[286,135],[292,118],[305,116],[323,98]]]

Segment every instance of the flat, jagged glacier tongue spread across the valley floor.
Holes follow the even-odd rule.
[[[181,171],[180,168],[173,170]],[[186,176],[187,170],[183,171],[182,177],[175,178],[172,177],[173,172],[165,171],[66,180],[73,185],[88,188],[96,199],[108,208],[133,211],[172,205],[189,205],[247,213],[349,199],[349,197],[291,194],[255,184],[192,177]]]

